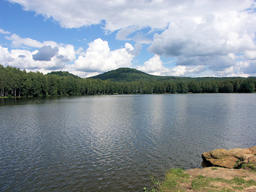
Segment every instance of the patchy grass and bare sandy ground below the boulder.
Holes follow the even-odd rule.
[[[234,177],[231,180],[220,177],[205,177],[203,175],[190,177],[183,171],[183,169],[177,168],[167,172],[165,180],[157,184],[157,186],[154,185],[150,189],[144,188],[144,191],[184,192],[191,190],[204,192],[232,192],[235,190],[244,190],[245,187],[256,186],[256,181],[245,180],[243,177]]]

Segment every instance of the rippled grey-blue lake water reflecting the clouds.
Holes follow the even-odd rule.
[[[142,191],[256,145],[256,94],[0,99],[0,191]]]

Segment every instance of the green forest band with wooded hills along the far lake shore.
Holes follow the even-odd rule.
[[[61,71],[51,72],[46,75],[40,72],[27,73],[26,70],[20,70],[16,67],[3,67],[3,65],[0,65],[0,96],[36,97],[137,93],[251,93],[255,92],[256,87],[256,77],[161,77],[151,76],[134,69],[127,69],[129,68],[113,70],[111,71],[111,76],[104,75],[104,78],[108,80],[101,80],[95,79],[97,76],[80,78],[79,76]],[[117,73],[118,71],[120,72],[120,70],[122,70],[121,77],[119,76],[120,73]],[[113,75],[113,73],[116,73],[116,75]],[[140,75],[143,75],[143,77]],[[122,76],[124,76],[124,78],[122,78]],[[128,76],[132,78],[127,79]],[[149,76],[149,78],[147,76]],[[150,77],[152,77],[152,79]],[[109,79],[114,80],[110,81]],[[119,79],[119,81],[116,79]]]

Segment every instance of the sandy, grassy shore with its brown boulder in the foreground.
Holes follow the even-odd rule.
[[[209,157],[207,159],[207,157]],[[153,191],[256,191],[256,146],[215,149],[202,154],[203,168],[171,169]],[[237,160],[238,159],[238,160]],[[232,160],[237,160],[235,162]],[[215,163],[220,163],[219,165]],[[144,191],[150,191],[148,189]]]

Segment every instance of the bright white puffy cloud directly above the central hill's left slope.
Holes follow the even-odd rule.
[[[134,47],[125,43],[125,48],[110,51],[108,42],[98,38],[89,43],[89,47],[75,61],[75,68],[84,72],[105,72],[119,67],[131,67]]]

